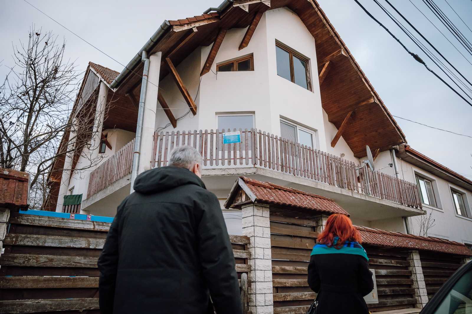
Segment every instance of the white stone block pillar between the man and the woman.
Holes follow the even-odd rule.
[[[245,204],[242,216],[243,235],[250,239],[249,310],[253,314],[273,314],[269,206]]]

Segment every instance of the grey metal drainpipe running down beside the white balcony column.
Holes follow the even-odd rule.
[[[141,81],[141,94],[139,95],[138,122],[136,125],[135,152],[133,153],[133,170],[131,172],[131,193],[135,191],[135,179],[138,175],[139,156],[141,154],[141,135],[143,133],[144,102],[146,101],[147,77],[149,73],[149,59],[147,52],[143,50],[141,62],[144,62],[143,80]]]

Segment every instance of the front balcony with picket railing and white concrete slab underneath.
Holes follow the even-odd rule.
[[[202,179],[211,190],[229,191],[237,176],[247,175],[333,198],[366,220],[423,213],[415,183],[368,167],[359,170],[353,161],[261,130],[239,129],[241,143],[236,144],[223,144],[223,132],[155,132],[151,165],[165,166],[174,147],[191,145],[202,154]]]

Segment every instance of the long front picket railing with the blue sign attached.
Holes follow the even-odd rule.
[[[405,206],[422,207],[418,189],[412,182],[367,167],[359,170],[360,165],[353,161],[258,129],[239,129],[241,143],[235,144],[223,144],[223,132],[225,129],[155,132],[151,165],[167,165],[174,147],[190,145],[202,155],[203,169],[247,166],[272,169]]]

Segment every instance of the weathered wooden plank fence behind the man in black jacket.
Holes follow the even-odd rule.
[[[0,256],[0,313],[99,314],[97,260],[109,228],[13,213]],[[230,239],[247,312],[249,238]]]

